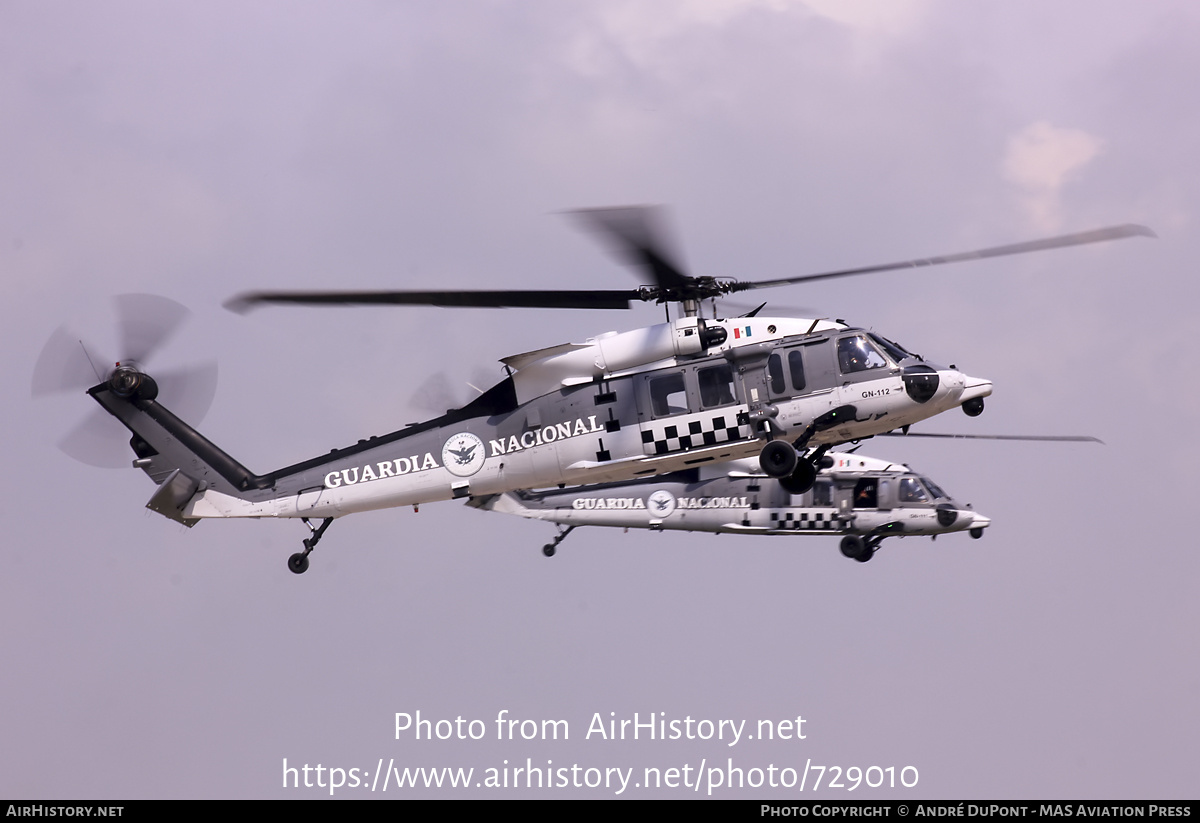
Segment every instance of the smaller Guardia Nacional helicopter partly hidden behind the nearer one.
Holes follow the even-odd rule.
[[[908,434],[1000,440],[1100,443],[1093,437]],[[967,531],[979,539],[991,519],[961,504],[926,475],[902,463],[830,451],[811,488],[793,494],[745,458],[620,483],[541,491],[518,489],[472,498],[467,505],[559,525],[542,547],[558,545],[581,525],[708,531],[713,534],[844,535],[841,553],[866,563],[886,537]],[[563,528],[565,527],[565,528]]]

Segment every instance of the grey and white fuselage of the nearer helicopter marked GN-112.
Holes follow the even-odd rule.
[[[796,318],[680,318],[503,362],[511,376],[461,409],[265,475],[186,426],[163,423],[166,445],[140,434],[137,409],[164,417],[156,401],[120,401],[103,386],[92,394],[151,441],[138,464],[156,482],[175,468],[190,479],[181,488],[194,491],[179,504],[185,521],[337,517],[635,480],[752,457],[769,438],[858,440],[991,394],[990,382],[862,329]],[[180,457],[180,444],[217,457]]]

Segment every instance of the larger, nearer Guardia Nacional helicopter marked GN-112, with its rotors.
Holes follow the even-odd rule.
[[[637,300],[677,302],[682,316],[504,358],[508,377],[462,408],[265,474],[251,471],[157,402],[160,385],[143,364],[181,317],[170,301],[162,304],[169,316],[166,322],[151,317],[157,310],[149,298],[119,304],[127,350],[86,391],[132,433],[133,465],[157,485],[149,509],[186,525],[206,518],[300,518],[311,534],[304,551],[288,559],[288,567],[302,573],[330,523],[359,511],[518,488],[628,481],[745,457],[757,457],[767,475],[792,492],[804,492],[832,446],[906,428],[956,407],[978,415],[991,382],[925,362],[840,320],[764,318],[757,317],[758,310],[737,318],[702,318],[703,300],[812,280],[1153,236],[1150,229],[1127,224],[962,254],[743,282],[684,274],[667,252],[653,209],[576,214],[620,256],[643,266],[654,286],[576,292],[259,292],[227,305],[235,311],[262,304],[628,308]],[[35,394],[77,388],[71,376],[78,374],[80,358],[68,335],[52,337],[35,367]],[[317,518],[319,525],[312,523]]]

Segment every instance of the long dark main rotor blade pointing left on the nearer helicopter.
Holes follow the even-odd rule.
[[[629,308],[637,289],[499,292],[246,292],[226,301],[245,314],[262,304],[301,306],[443,306],[467,308]]]

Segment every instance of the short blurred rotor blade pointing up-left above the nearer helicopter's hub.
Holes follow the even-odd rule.
[[[665,289],[690,286],[679,256],[673,251],[661,206],[619,206],[577,209],[566,214],[578,218],[622,260],[644,269]]]

